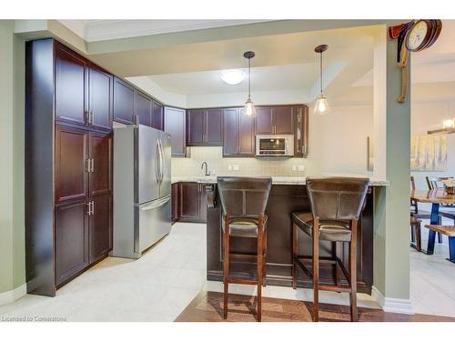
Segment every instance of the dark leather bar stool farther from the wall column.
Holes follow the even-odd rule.
[[[223,207],[223,318],[227,319],[228,284],[249,284],[258,286],[257,318],[261,320],[261,301],[263,279],[266,276],[267,251],[267,215],[265,214],[272,179],[261,177],[221,176],[217,178],[217,189]],[[240,279],[229,276],[229,260],[231,257],[242,257],[230,253],[231,236],[257,238],[258,279]]]

